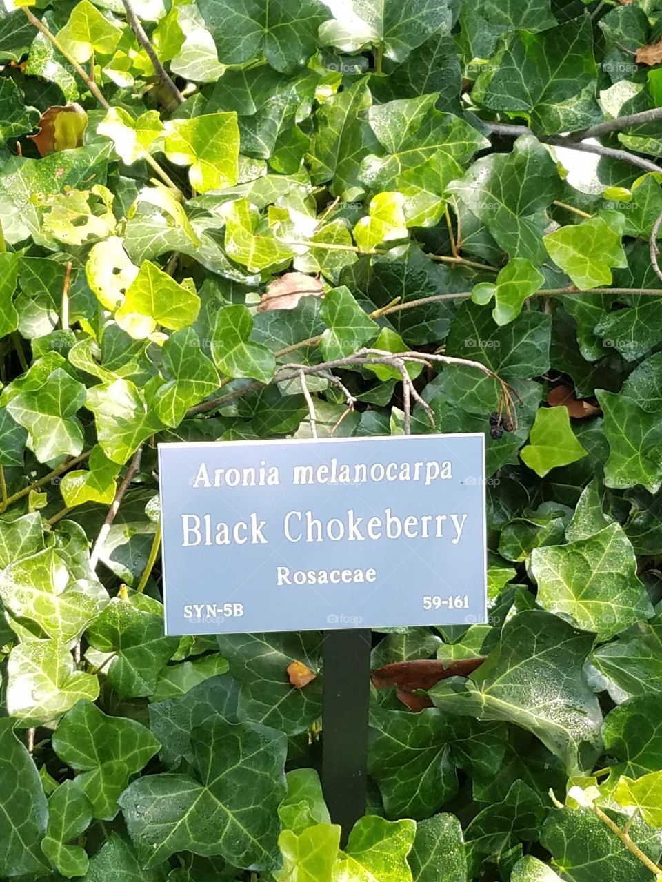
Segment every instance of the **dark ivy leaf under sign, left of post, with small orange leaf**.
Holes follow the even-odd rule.
[[[321,678],[296,689],[287,676],[292,662],[319,671],[319,632],[224,634],[217,639],[241,686],[240,720],[273,726],[292,736],[305,732],[320,716]]]

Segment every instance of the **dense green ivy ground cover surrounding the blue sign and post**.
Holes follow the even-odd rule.
[[[662,4],[0,5],[0,879],[649,882]],[[485,433],[487,624],[163,634],[156,444]],[[421,592],[422,586],[402,585]]]

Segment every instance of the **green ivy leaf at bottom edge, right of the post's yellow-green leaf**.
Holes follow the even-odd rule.
[[[408,858],[416,882],[466,882],[467,856],[462,826],[455,815],[433,815],[416,825]]]

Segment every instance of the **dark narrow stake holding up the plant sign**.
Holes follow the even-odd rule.
[[[343,845],[365,814],[370,652],[369,630],[325,632],[322,789]]]

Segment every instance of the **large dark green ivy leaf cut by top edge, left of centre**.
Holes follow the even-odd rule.
[[[260,52],[276,71],[302,67],[317,47],[317,30],[329,18],[318,0],[265,6],[259,0],[199,0],[223,64],[243,64]]]

